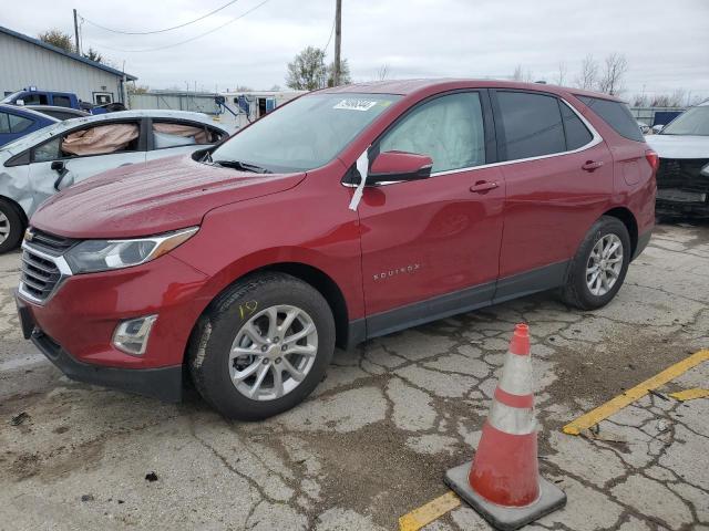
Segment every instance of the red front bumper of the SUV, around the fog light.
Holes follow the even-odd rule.
[[[134,268],[68,277],[42,304],[16,295],[25,339],[66,376],[174,402],[207,277],[168,254]],[[124,320],[157,314],[143,355],[116,348]]]

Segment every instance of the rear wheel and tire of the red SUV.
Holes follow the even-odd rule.
[[[618,257],[617,253],[613,253],[603,261],[602,267],[598,262],[599,257],[603,256],[600,251],[610,250],[618,242],[623,256]],[[592,252],[595,257],[593,261]],[[625,281],[631,252],[630,236],[625,225],[617,218],[602,216],[593,225],[572,260],[566,284],[563,288],[564,301],[580,310],[595,310],[608,304]],[[594,266],[598,266],[598,268],[587,277],[587,268]],[[607,272],[604,272],[604,268]],[[615,271],[613,271],[614,268],[616,268]],[[598,275],[594,277],[596,271]],[[615,278],[614,274],[616,274]],[[613,283],[607,283],[609,288],[603,285],[604,278],[608,281],[615,279]],[[597,291],[594,292],[594,289]]]

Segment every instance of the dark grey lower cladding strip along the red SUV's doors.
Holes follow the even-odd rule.
[[[450,317],[563,285],[569,261],[553,263],[497,282],[466,288],[349,323],[348,347],[372,337]]]

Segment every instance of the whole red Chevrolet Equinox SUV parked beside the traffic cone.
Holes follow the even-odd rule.
[[[656,154],[596,93],[496,81],[314,92],[31,220],[24,335],[69,377],[232,418],[284,412],[347,347],[561,288],[608,303],[654,225]]]

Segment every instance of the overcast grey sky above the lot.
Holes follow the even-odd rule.
[[[93,46],[114,65],[153,88],[186,83],[219,91],[236,85],[285,86],[286,64],[307,45],[323,48],[335,0],[238,0],[185,28],[152,31],[196,19],[227,0],[122,0],[100,4],[74,0],[86,21],[84,49]],[[70,2],[34,0],[3,9],[0,24],[37,35],[49,28],[73,34]],[[505,77],[517,64],[534,80],[554,81],[558,64],[576,77],[586,54],[602,60],[625,54],[626,95],[691,91],[709,97],[709,0],[342,0],[342,56],[354,81],[377,77]],[[63,4],[63,6],[59,6]],[[24,6],[24,7],[23,7]],[[64,7],[65,6],[65,7]],[[256,8],[256,9],[254,9]],[[254,10],[220,30],[195,38]],[[123,51],[116,51],[123,50]],[[331,61],[333,41],[327,49]]]

